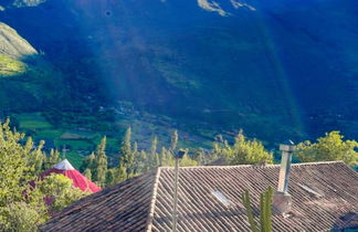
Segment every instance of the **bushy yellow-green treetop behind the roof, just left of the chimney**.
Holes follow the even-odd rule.
[[[242,130],[235,137],[235,143],[232,146],[227,140],[222,141],[222,146],[215,143],[213,154],[224,157],[227,165],[273,162],[273,154],[267,152],[261,141],[248,140]]]

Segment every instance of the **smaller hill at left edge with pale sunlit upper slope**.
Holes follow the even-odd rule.
[[[56,89],[62,86],[60,73],[4,23],[0,23],[0,116],[43,110],[61,98],[63,91]]]

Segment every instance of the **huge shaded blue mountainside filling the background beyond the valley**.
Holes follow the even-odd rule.
[[[199,134],[243,128],[274,141],[357,136],[357,10],[338,0],[49,0],[2,19],[72,74],[71,98],[127,101]]]

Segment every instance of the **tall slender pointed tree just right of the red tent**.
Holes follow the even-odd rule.
[[[107,172],[107,156],[106,156],[106,137],[103,137],[96,150],[96,176],[95,180],[99,183],[99,186],[104,186],[106,181],[106,172]]]

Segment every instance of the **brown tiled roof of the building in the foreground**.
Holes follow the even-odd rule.
[[[257,214],[259,196],[277,186],[278,171],[280,166],[180,168],[178,231],[249,231],[241,194],[250,190]],[[129,179],[70,205],[41,230],[170,231],[172,179],[173,169],[166,167]],[[343,162],[293,165],[288,192],[292,214],[274,215],[274,231],[328,231],[358,212],[358,173]]]

